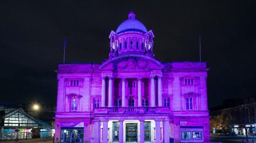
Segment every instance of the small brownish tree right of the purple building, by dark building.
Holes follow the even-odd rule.
[[[222,130],[224,133],[228,133],[228,127],[232,124],[233,118],[228,111],[223,111],[219,115],[212,116],[210,119],[210,128],[212,130],[215,127],[216,130]]]

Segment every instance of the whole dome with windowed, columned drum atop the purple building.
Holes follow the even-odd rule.
[[[116,32],[111,31],[110,58],[129,53],[154,56],[152,50],[154,34],[135,17],[133,11],[129,12],[128,19],[118,26]]]

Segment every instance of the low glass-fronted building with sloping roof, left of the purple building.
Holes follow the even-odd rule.
[[[51,138],[54,127],[21,107],[0,104],[0,139]]]

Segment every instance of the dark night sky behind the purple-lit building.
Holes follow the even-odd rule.
[[[101,63],[131,7],[162,61],[198,61],[202,35],[209,107],[256,94],[255,0],[1,0],[0,101],[55,104],[63,37],[68,63]]]

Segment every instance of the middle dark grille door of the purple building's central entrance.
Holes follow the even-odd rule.
[[[127,143],[138,142],[138,123],[125,124],[125,141]]]

